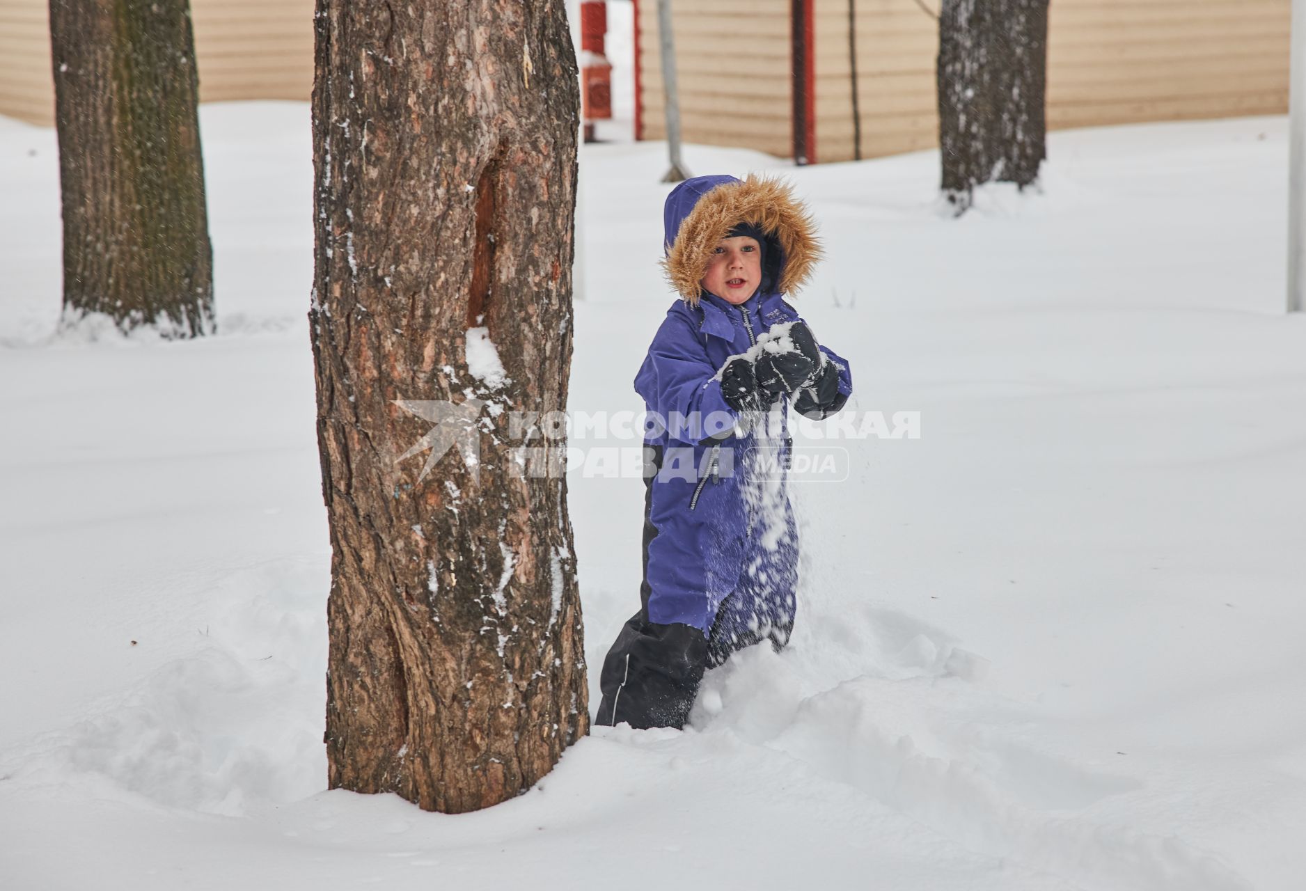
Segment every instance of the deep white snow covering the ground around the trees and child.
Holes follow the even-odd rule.
[[[1043,195],[960,221],[932,153],[691,146],[794,180],[829,253],[798,306],[921,436],[795,487],[789,651],[462,817],[324,790],[308,112],[202,129],[219,336],[51,340],[55,138],[0,120],[0,887],[1303,887],[1285,120],[1055,133]],[[585,149],[572,410],[641,408],[662,150]],[[643,487],[569,491],[597,704]]]

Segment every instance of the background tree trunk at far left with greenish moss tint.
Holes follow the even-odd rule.
[[[187,0],[50,0],[64,323],[212,333],[199,78]]]

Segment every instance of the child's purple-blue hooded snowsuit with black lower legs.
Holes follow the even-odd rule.
[[[678,186],[665,216],[673,260],[679,261],[670,248],[687,235],[682,227],[701,234],[703,226],[686,226],[686,219],[705,195],[731,186],[729,195],[747,199],[755,182],[703,176]],[[788,191],[782,196],[788,199]],[[763,199],[776,200],[769,193],[757,200]],[[744,200],[743,210],[748,208]],[[646,430],[644,442],[641,609],[605,660],[598,724],[680,726],[705,668],[748,644],[769,638],[778,648],[789,639],[798,537],[784,470],[777,473],[790,448],[784,422],[788,400],[763,425],[761,413],[741,415],[726,404],[717,372],[774,325],[801,321],[777,290],[786,281],[784,244],[795,244],[793,233],[782,229],[791,218],[781,214],[780,231],[768,233],[757,293],[742,304],[707,291],[693,302],[677,300],[635,378],[648,412],[662,423]],[[727,216],[727,225],[735,222]],[[716,244],[714,234],[707,230],[708,250]],[[693,270],[686,274],[692,277]],[[820,350],[838,370],[838,391],[846,398],[848,362],[824,346]]]

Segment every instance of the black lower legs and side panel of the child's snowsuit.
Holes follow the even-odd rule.
[[[730,653],[771,639],[776,649],[784,647],[793,630],[793,615],[772,624],[765,634],[738,630],[725,634],[720,622],[704,635],[692,624],[661,624],[648,618],[649,542],[657,526],[649,516],[653,510],[653,478],[662,466],[662,447],[644,447],[644,577],[640,583],[640,611],[622,626],[616,640],[603,658],[594,724],[615,726],[627,722],[636,729],[669,726],[680,729],[690,717],[699,683],[709,668],[716,668]],[[734,597],[735,594],[730,594]],[[729,600],[729,598],[727,598]],[[790,598],[791,601],[791,598]],[[718,615],[725,613],[725,605]]]

